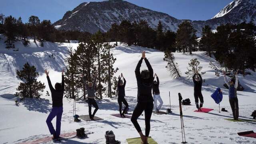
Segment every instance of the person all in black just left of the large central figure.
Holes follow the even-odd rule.
[[[125,85],[126,85],[126,80],[124,78],[124,83],[123,83],[121,78],[124,78],[122,73],[121,73],[121,77],[118,78],[118,86],[117,86],[117,88],[118,88],[118,104],[119,104],[120,116],[125,118],[124,112],[126,112],[126,110],[128,108],[128,103],[127,103],[127,101],[124,98],[124,96],[125,96],[125,89],[124,88],[125,88]],[[125,105],[125,108],[124,108],[123,112],[122,112],[122,102]]]

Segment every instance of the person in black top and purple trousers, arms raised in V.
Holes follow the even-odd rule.
[[[61,117],[63,113],[63,95],[64,95],[64,70],[62,70],[62,82],[55,84],[55,89],[52,87],[51,80],[49,78],[49,71],[44,71],[46,74],[46,78],[48,80],[48,85],[52,94],[52,111],[48,115],[46,119],[46,124],[49,128],[50,133],[53,135],[53,139],[60,138],[60,126],[61,126]],[[52,119],[56,116],[56,131],[54,130],[54,127],[52,126]]]

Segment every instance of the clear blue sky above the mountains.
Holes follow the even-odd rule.
[[[1,0],[0,13],[21,16],[27,22],[31,15],[56,22],[66,11],[82,2],[103,0]],[[178,19],[208,20],[233,0],[126,0],[138,6],[164,12]]]

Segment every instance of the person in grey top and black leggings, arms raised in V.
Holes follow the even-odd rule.
[[[84,86],[87,91],[88,95],[88,107],[89,107],[89,116],[91,120],[94,120],[94,115],[96,114],[97,110],[99,109],[98,104],[95,101],[95,89],[96,89],[96,74],[94,74],[94,81],[92,82],[86,82],[85,76],[82,74],[81,77],[84,81]],[[92,114],[92,106],[94,106],[94,112]]]

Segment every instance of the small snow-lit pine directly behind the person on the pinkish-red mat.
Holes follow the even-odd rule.
[[[202,66],[199,66],[200,62],[197,60],[197,58],[192,58],[190,62],[188,63],[188,71],[185,72],[188,77],[191,77],[195,74],[196,70],[198,73],[202,70]]]

